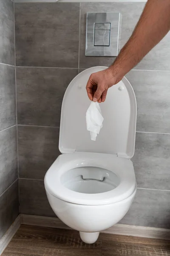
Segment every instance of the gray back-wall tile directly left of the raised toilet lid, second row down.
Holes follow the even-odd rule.
[[[18,124],[59,126],[64,93],[77,72],[77,69],[18,67]]]

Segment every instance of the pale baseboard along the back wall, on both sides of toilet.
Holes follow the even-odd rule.
[[[70,229],[62,221],[60,221],[59,218],[35,215],[21,214],[21,224]],[[102,231],[102,233],[170,240],[170,230],[157,227],[140,227],[116,224],[108,230]]]

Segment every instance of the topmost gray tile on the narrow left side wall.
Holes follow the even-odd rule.
[[[0,62],[14,65],[14,3],[0,0]]]

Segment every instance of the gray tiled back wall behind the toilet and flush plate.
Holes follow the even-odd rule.
[[[108,66],[114,60],[85,56],[86,13],[121,13],[121,49],[143,8],[139,2],[16,3],[20,212],[55,216],[43,178],[59,154],[65,89],[82,69]],[[169,42],[170,33],[127,74],[138,103],[133,157],[138,190],[124,224],[170,228]]]

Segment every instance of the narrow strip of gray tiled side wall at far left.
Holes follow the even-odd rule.
[[[0,239],[18,214],[14,2],[0,0]]]

